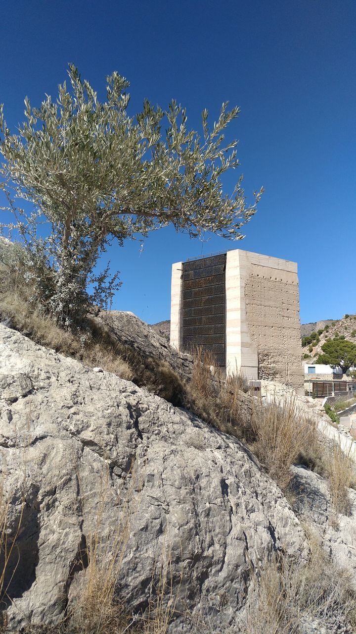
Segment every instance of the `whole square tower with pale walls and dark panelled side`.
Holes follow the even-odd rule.
[[[302,390],[295,262],[234,249],[172,265],[170,343],[201,346],[227,373]]]

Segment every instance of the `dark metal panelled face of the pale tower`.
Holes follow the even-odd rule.
[[[225,366],[226,254],[183,263],[181,348],[201,347]]]

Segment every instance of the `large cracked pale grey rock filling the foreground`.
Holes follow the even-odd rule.
[[[187,612],[228,626],[258,560],[279,548],[307,555],[296,515],[236,439],[4,325],[0,461],[9,537],[18,532],[11,631],[60,620],[85,583],[96,531],[103,560],[122,554],[115,587],[130,612],[148,605],[168,564],[175,631],[189,631]]]

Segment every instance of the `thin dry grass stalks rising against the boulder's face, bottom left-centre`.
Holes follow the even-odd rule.
[[[125,488],[125,490],[124,490]],[[174,596],[171,552],[163,540],[162,556],[151,571],[151,584],[146,596],[146,610],[133,614],[120,601],[118,578],[128,554],[130,528],[139,500],[134,501],[137,489],[134,467],[117,495],[120,498],[120,521],[108,526],[108,512],[115,503],[110,487],[110,473],[103,465],[98,491],[98,514],[87,536],[82,552],[82,566],[77,569],[79,581],[72,595],[70,607],[60,624],[28,626],[26,634],[166,634],[175,613],[178,583]],[[117,500],[118,502],[118,500]],[[86,499],[82,500],[83,510]],[[1,630],[0,630],[1,631]]]

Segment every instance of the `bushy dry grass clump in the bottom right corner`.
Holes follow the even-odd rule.
[[[305,525],[310,555],[274,553],[251,570],[251,593],[243,634],[302,634],[310,623],[322,631],[355,631],[356,595],[350,578],[337,569],[321,540]]]

